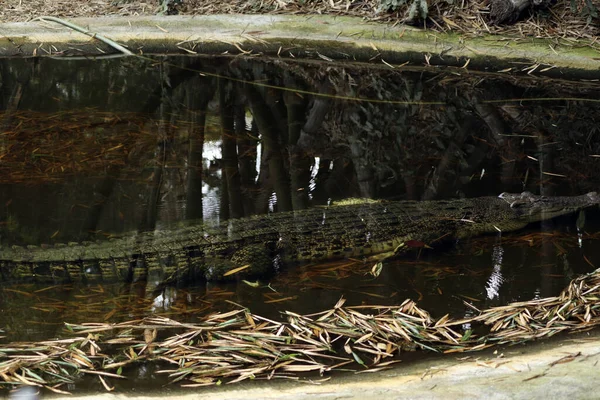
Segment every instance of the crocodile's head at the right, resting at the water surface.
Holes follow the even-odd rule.
[[[510,204],[527,222],[537,222],[571,214],[600,204],[600,194],[590,192],[581,196],[538,196],[531,192],[502,193],[499,198]]]

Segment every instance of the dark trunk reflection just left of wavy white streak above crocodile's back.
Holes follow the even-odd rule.
[[[295,82],[286,79],[287,87],[297,86]],[[297,145],[304,125],[305,101],[295,93],[285,93],[285,103],[288,115],[288,149],[290,155],[290,181],[292,189],[292,204],[294,210],[308,207],[308,184],[310,181],[310,166],[312,160]]]

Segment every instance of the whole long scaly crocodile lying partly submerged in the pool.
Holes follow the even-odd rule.
[[[0,281],[157,284],[260,276],[284,266],[400,253],[474,235],[522,229],[600,204],[600,195],[529,192],[431,201],[364,201],[190,224],[97,242],[0,248]]]

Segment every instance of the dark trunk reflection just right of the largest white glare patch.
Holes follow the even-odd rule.
[[[233,90],[231,82],[223,80],[219,82],[223,179],[227,181],[230,216],[241,218],[244,216],[244,207],[238,169],[237,140],[233,126]]]

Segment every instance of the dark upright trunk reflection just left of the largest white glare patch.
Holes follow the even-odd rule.
[[[204,148],[204,129],[206,108],[214,96],[212,82],[200,77],[192,79],[187,88],[187,114],[189,116],[189,151],[186,182],[185,219],[202,218],[202,151]]]

